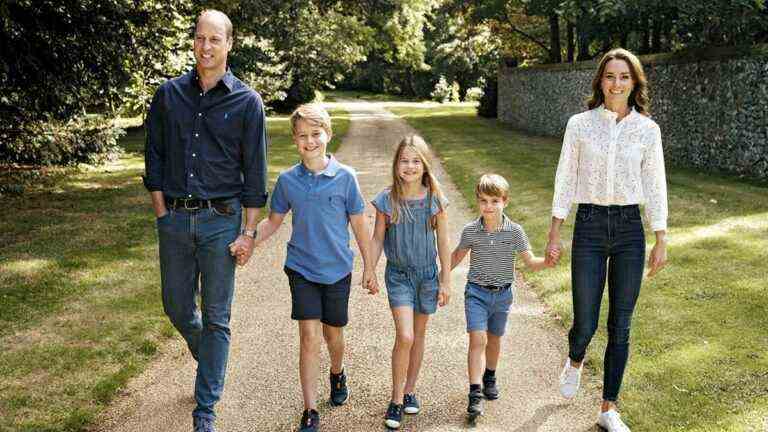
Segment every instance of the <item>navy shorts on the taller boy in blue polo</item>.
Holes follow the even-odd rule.
[[[301,273],[288,267],[283,270],[291,286],[291,319],[319,319],[332,327],[347,325],[351,273],[332,284],[321,284],[305,279]]]

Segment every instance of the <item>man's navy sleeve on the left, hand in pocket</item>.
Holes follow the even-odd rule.
[[[160,86],[152,98],[145,120],[144,187],[150,192],[163,190],[163,163],[165,160],[165,108],[164,87]]]

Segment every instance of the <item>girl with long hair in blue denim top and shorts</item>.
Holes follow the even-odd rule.
[[[397,333],[392,349],[392,399],[384,418],[392,429],[400,427],[403,411],[417,414],[421,409],[414,388],[424,356],[427,321],[437,305],[445,306],[450,297],[447,201],[432,174],[428,154],[427,144],[419,136],[400,141],[392,161],[392,186],[372,202],[376,208],[373,265],[375,268],[383,247],[387,295]]]

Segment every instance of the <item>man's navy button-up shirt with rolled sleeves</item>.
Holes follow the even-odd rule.
[[[267,133],[258,93],[229,70],[203,92],[196,70],[163,83],[146,120],[144,186],[169,198],[267,202]]]

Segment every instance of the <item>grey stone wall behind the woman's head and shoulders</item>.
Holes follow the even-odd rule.
[[[640,57],[668,165],[768,180],[768,46]],[[499,120],[562,136],[594,61],[499,71]]]

